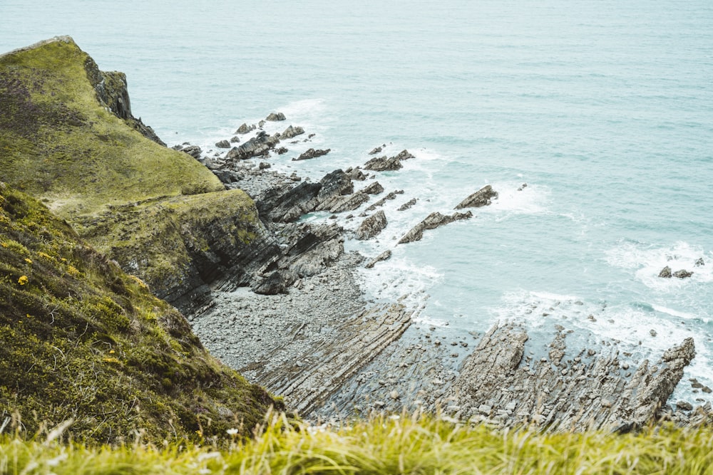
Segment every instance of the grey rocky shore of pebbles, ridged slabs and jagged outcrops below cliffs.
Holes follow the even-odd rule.
[[[266,120],[285,118],[273,113]],[[416,323],[426,295],[404,295],[399,302],[367,301],[356,270],[378,266],[389,259],[391,249],[365,259],[345,253],[344,241],[375,239],[388,227],[389,216],[381,208],[403,192],[385,190],[378,174],[399,170],[401,162],[414,155],[404,150],[392,157],[367,156],[362,165],[335,169],[312,182],[294,172],[277,172],[269,162],[271,155],[289,152],[287,145],[299,143],[294,137],[307,132],[289,125],[268,135],[261,130],[264,124],[242,125],[237,135],[257,133],[247,140],[236,135],[222,141],[223,146],[242,143],[225,154],[202,153],[190,144],[175,147],[212,169],[227,188],[250,194],[276,244],[272,257],[263,256],[253,271],[250,288],[216,281],[207,304],[191,312],[190,321],[214,355],[251,382],[284,396],[303,417],[334,419],[406,407],[441,410],[456,419],[499,427],[535,424],[548,430],[618,431],[655,419],[689,424],[709,417],[711,407],[705,400],[697,407],[667,405],[684,367],[694,358],[691,339],[672,342],[652,363],[632,357],[616,341],[602,340],[595,347],[580,341],[568,345],[568,335],[581,330],[553,322],[543,351],[541,343],[531,343],[522,321],[498,323],[483,335],[464,335]],[[291,142],[284,144],[287,140]],[[369,155],[379,155],[384,148],[376,147]],[[309,148],[293,161],[317,159],[327,152]],[[371,181],[362,184],[365,179]],[[399,210],[419,199],[408,198]],[[398,244],[471,219],[469,209],[488,206],[494,199],[498,192],[490,185],[477,189],[453,207],[465,211],[432,212]],[[344,229],[326,215],[300,221],[312,212],[349,214],[347,221],[354,226]]]

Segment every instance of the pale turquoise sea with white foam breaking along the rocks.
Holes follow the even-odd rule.
[[[713,4],[384,3],[3,0],[0,50],[73,36],[127,73],[134,114],[171,145],[281,110],[332,148],[294,166],[305,176],[408,148],[379,176],[405,190],[389,227],[347,243],[394,249],[369,293],[411,292],[421,318],[463,331],[567,319],[642,356],[694,336],[686,377],[713,386]],[[487,183],[501,197],[476,218],[394,247]],[[657,278],[666,265],[695,273]]]

